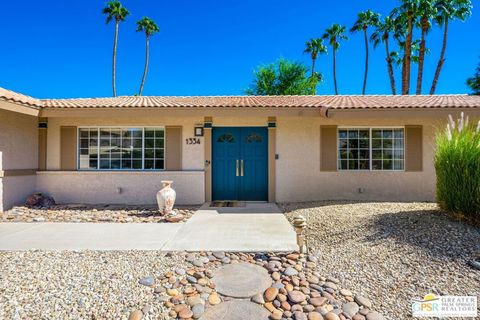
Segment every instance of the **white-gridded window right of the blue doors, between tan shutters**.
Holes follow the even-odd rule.
[[[339,170],[404,170],[403,128],[338,130]]]

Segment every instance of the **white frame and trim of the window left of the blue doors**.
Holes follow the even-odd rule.
[[[113,128],[118,128],[118,129],[133,129],[133,128],[138,128],[142,129],[142,169],[100,169],[100,158],[98,158],[98,163],[97,163],[97,169],[82,169],[80,168],[80,130],[81,129],[102,129],[102,128],[108,128],[108,129],[113,129]],[[163,130],[163,169],[145,169],[145,129],[162,129]],[[111,172],[111,171],[131,171],[131,172],[139,172],[139,171],[145,171],[145,172],[156,172],[156,171],[166,171],[166,162],[167,162],[167,130],[165,129],[165,126],[81,126],[77,127],[77,148],[75,150],[76,152],[76,160],[77,160],[77,170],[78,171],[92,171],[92,172]],[[100,155],[100,137],[98,141],[98,155]]]

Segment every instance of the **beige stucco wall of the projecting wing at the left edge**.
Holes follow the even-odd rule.
[[[34,173],[1,176],[10,170],[37,168],[37,121],[36,116],[0,110],[0,211],[23,203],[35,189]]]

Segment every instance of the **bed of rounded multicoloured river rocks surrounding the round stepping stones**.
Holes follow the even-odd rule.
[[[321,275],[314,256],[224,252],[181,255],[189,264],[187,268],[177,267],[161,277],[139,279],[139,283],[151,288],[155,300],[163,303],[172,319],[200,319],[208,308],[234,300],[216,291],[213,277],[216,269],[237,263],[256,264],[268,271],[270,287],[250,300],[266,308],[270,319],[384,319],[374,311],[372,301],[343,288],[340,279]],[[141,306],[131,313],[131,319],[143,316],[147,314]]]

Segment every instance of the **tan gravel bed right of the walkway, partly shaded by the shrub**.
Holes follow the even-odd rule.
[[[281,205],[302,215],[319,272],[369,297],[387,319],[411,317],[413,298],[480,295],[480,228],[452,220],[433,203],[316,202]],[[479,311],[480,314],[480,311]],[[449,318],[450,319],[450,318]]]

